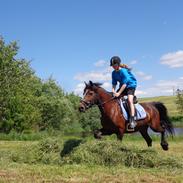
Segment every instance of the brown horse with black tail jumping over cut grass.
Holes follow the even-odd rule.
[[[86,83],[85,83],[86,84]],[[107,92],[99,83],[90,81],[84,89],[84,97],[80,102],[80,112],[85,112],[93,105],[97,105],[101,112],[102,128],[94,132],[94,137],[100,139],[102,135],[116,134],[117,138],[122,140],[124,133],[128,132],[127,124],[121,108],[119,99],[114,98],[112,93]],[[174,128],[170,122],[166,107],[160,102],[141,103],[144,107],[147,117],[137,122],[133,132],[139,131],[148,146],[152,146],[152,139],[148,134],[148,127],[153,131],[161,133],[161,146],[168,150],[168,143],[165,139],[165,132],[174,135]]]

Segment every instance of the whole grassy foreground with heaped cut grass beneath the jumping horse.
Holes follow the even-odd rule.
[[[169,138],[163,151],[159,137],[147,148],[141,137],[88,137],[40,141],[0,141],[0,182],[183,182],[183,137]]]

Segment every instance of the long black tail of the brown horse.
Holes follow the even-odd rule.
[[[168,117],[167,108],[161,102],[154,102],[153,104],[159,111],[161,125],[169,132],[169,134],[173,136],[175,134],[174,127],[170,121],[170,118]]]

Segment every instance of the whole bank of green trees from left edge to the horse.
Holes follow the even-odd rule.
[[[0,38],[0,131],[9,133],[47,129],[63,132],[92,131],[100,125],[97,108],[78,112],[80,98],[64,93],[50,77],[42,81],[30,62],[17,59],[16,42]]]

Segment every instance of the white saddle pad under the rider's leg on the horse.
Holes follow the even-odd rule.
[[[124,103],[122,100],[120,100],[120,106],[121,106],[121,110],[123,113],[123,116],[125,118],[125,120],[129,120],[129,115],[128,112],[126,111],[125,107],[124,107]],[[141,119],[145,119],[147,116],[144,108],[142,107],[142,105],[140,104],[135,104],[135,120],[141,120]]]

